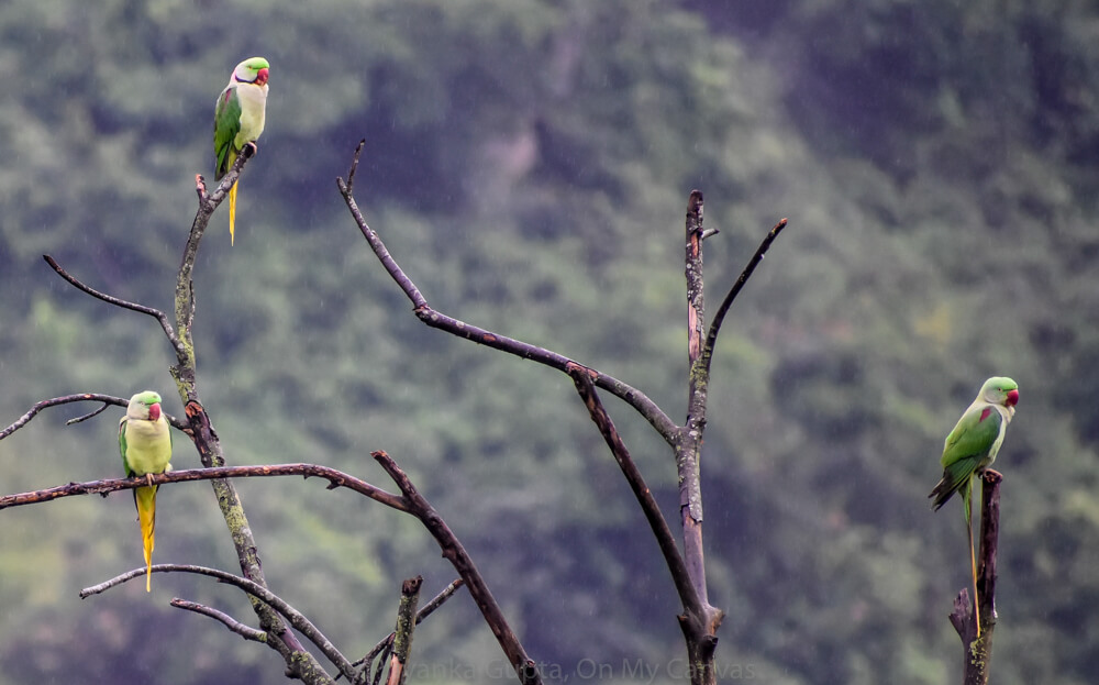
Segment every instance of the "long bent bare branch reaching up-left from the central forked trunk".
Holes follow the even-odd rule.
[[[362,147],[363,143],[359,143],[359,146],[355,151],[355,157],[352,163],[351,170],[347,174],[348,178],[354,178],[355,170],[358,167]],[[340,187],[340,192],[343,195],[344,201],[347,203],[347,209],[351,211],[352,218],[354,218],[355,223],[363,233],[363,237],[366,239],[366,242],[370,245],[370,248],[374,250],[374,253],[378,256],[382,266],[387,272],[389,272],[390,277],[392,277],[397,285],[400,286],[401,290],[404,291],[404,295],[412,302],[415,316],[420,319],[420,321],[430,328],[446,331],[447,333],[458,338],[464,338],[475,343],[486,345],[501,352],[507,352],[508,354],[512,354],[520,358],[529,360],[551,368],[556,368],[563,373],[568,373],[568,364],[576,363],[564,355],[557,354],[556,352],[545,350],[513,338],[500,335],[476,325],[470,325],[464,321],[459,321],[453,317],[448,317],[432,309],[428,305],[428,300],[420,292],[420,289],[417,288],[415,284],[412,283],[412,279],[409,278],[409,276],[397,264],[397,261],[393,259],[392,255],[386,248],[378,234],[367,224],[366,219],[363,217],[363,212],[358,208],[358,203],[355,201],[355,197],[352,195],[352,187],[344,181],[343,178],[337,178],[336,185]],[[595,384],[598,387],[611,393],[637,410],[637,412],[641,413],[669,443],[674,440],[674,435],[677,430],[676,423],[668,418],[666,413],[664,413],[656,402],[650,399],[641,390],[622,383],[613,376],[609,376],[600,372],[596,372],[596,374]]]

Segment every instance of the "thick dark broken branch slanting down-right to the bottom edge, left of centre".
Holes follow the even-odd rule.
[[[397,462],[392,457],[380,450],[374,452],[373,456],[381,464],[381,467],[386,469],[389,477],[400,488],[401,494],[404,495],[404,499],[409,505],[409,512],[420,519],[423,527],[428,529],[431,537],[439,543],[440,549],[443,551],[443,557],[451,562],[454,570],[465,581],[466,586],[469,588],[469,595],[477,603],[477,608],[480,609],[481,616],[485,617],[485,622],[492,630],[492,634],[496,636],[497,641],[503,649],[503,653],[508,655],[508,660],[515,670],[515,675],[519,676],[520,682],[524,685],[541,685],[542,674],[539,672],[537,664],[526,655],[526,650],[523,649],[519,638],[515,637],[511,626],[508,625],[508,619],[504,618],[503,611],[500,610],[500,605],[497,604],[496,598],[485,583],[485,578],[477,570],[477,565],[474,564],[473,559],[470,559],[457,535],[451,531],[446,521],[439,516],[439,512],[435,511],[434,507],[431,506],[424,496],[415,489],[408,474],[401,471],[401,467],[397,465]]]

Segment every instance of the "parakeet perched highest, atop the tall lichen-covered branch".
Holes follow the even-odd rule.
[[[251,57],[236,65],[229,85],[218,96],[213,117],[213,152],[218,157],[214,179],[229,173],[237,155],[264,132],[267,111],[267,70],[263,57]],[[234,241],[236,228],[236,186],[229,190],[229,240]]]

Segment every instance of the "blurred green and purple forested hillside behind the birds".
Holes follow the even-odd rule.
[[[226,7],[227,4],[227,7]],[[230,247],[196,269],[199,387],[232,464],[318,462],[387,486],[385,449],[562,674],[674,680],[678,605],[571,383],[425,329],[355,229],[356,190],[434,307],[686,411],[684,209],[706,194],[726,320],[703,461],[719,665],[779,685],[940,684],[966,585],[942,440],[1014,377],[992,677],[1099,671],[1099,10],[1074,0],[9,0],[0,4],[0,423],[77,391],[165,395],[170,310],[212,173],[213,102],[270,59],[267,130]],[[666,511],[669,451],[608,399]],[[3,491],[118,476],[121,411],[49,410],[0,442]],[[177,468],[198,465],[176,441]],[[346,653],[400,579],[453,578],[407,517],[300,479],[241,482],[273,589]],[[236,570],[209,487],[164,488],[155,561]],[[252,619],[235,589],[141,564],[127,495],[0,512],[0,684],[278,682],[269,650],[167,606]],[[502,655],[465,594],[417,631],[423,682]],[[680,662],[681,673],[681,662]],[[453,667],[452,667],[453,666]],[[736,669],[740,671],[736,671]],[[449,670],[448,670],[449,669]],[[663,678],[663,681],[662,681]],[[575,680],[575,677],[574,677]],[[735,680],[730,677],[728,680]]]

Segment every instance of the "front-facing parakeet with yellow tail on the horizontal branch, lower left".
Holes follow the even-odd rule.
[[[126,416],[119,421],[119,450],[126,476],[151,476],[171,471],[171,432],[160,413],[160,396],[153,390],[130,398]],[[152,479],[152,478],[149,478]],[[153,530],[156,527],[156,486],[134,488],[134,505],[145,548],[145,592],[152,592]]]

